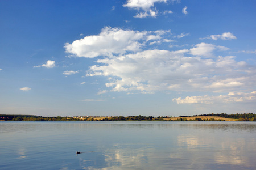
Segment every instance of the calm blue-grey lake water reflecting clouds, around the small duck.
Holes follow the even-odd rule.
[[[256,169],[256,122],[2,121],[0,169]]]

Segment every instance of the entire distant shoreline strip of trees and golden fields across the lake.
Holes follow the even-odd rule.
[[[0,121],[256,121],[256,114],[203,114],[193,116],[74,116],[45,117],[35,115],[0,114]]]

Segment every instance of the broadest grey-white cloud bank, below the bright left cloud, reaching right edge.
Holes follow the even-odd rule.
[[[189,50],[147,50],[114,58],[98,59],[86,76],[111,77],[110,91],[227,92],[254,86],[256,68],[236,62],[232,56],[216,60],[185,57]]]

